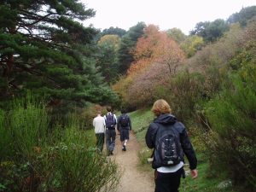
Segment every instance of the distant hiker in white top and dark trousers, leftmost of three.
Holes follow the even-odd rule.
[[[97,116],[93,119],[92,125],[96,133],[96,148],[102,152],[105,137],[105,119],[102,117],[102,111],[97,111]]]

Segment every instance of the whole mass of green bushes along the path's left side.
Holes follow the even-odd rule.
[[[31,98],[0,110],[0,191],[93,192],[117,185],[117,165],[96,152],[79,119],[70,117],[49,129],[44,103]]]

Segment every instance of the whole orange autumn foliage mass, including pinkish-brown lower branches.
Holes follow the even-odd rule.
[[[144,35],[132,50],[135,59],[131,63],[127,77],[121,79],[113,89],[124,96],[126,102],[135,107],[144,107],[154,101],[154,88],[166,84],[184,60],[183,50],[166,32],[158,26],[149,25]],[[126,84],[125,82],[129,82]],[[125,84],[125,90],[121,89]]]

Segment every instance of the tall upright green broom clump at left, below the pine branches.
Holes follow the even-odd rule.
[[[31,96],[13,103],[9,112],[9,131],[13,148],[21,157],[29,158],[35,148],[47,138],[49,118],[43,103],[33,101]]]

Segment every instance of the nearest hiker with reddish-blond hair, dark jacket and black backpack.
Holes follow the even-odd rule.
[[[192,178],[197,177],[195,151],[184,125],[171,114],[165,100],[154,102],[151,110],[156,118],[149,125],[145,140],[148,148],[154,148],[154,192],[178,192],[180,178],[184,177],[183,154],[189,160]]]

